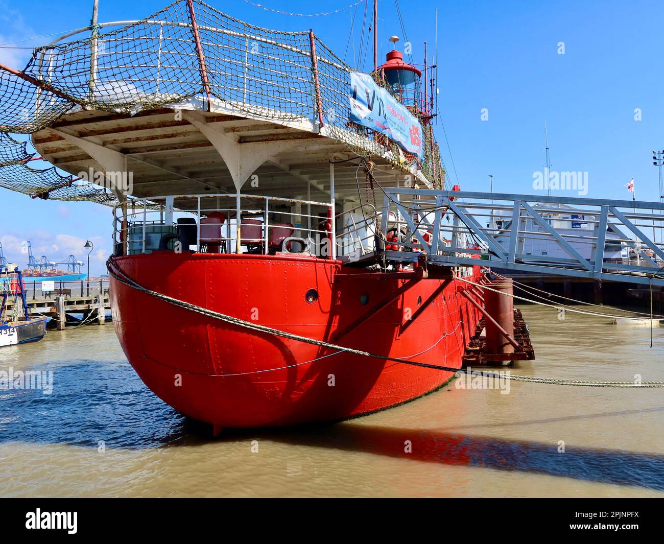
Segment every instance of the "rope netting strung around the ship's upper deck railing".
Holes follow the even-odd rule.
[[[440,161],[434,167],[427,130],[419,161],[394,141],[349,122],[351,71],[313,33],[262,29],[200,1],[179,0],[122,29],[36,48],[23,77],[1,71],[0,130],[31,134],[76,107],[133,114],[183,102],[282,122],[318,124],[322,117],[321,132],[357,155],[392,151],[395,165],[417,167],[437,185],[442,168]],[[5,141],[2,158],[11,154]],[[19,183],[2,177],[3,187]],[[27,188],[33,181],[27,176],[21,183]],[[23,191],[23,185],[10,188]]]

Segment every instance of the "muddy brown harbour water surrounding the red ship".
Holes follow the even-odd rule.
[[[664,380],[664,326],[521,307],[537,359],[513,374]],[[143,385],[112,325],[0,349],[52,371],[0,389],[0,496],[664,496],[664,389],[456,383],[335,424],[218,438]],[[564,449],[564,451],[563,451]]]

